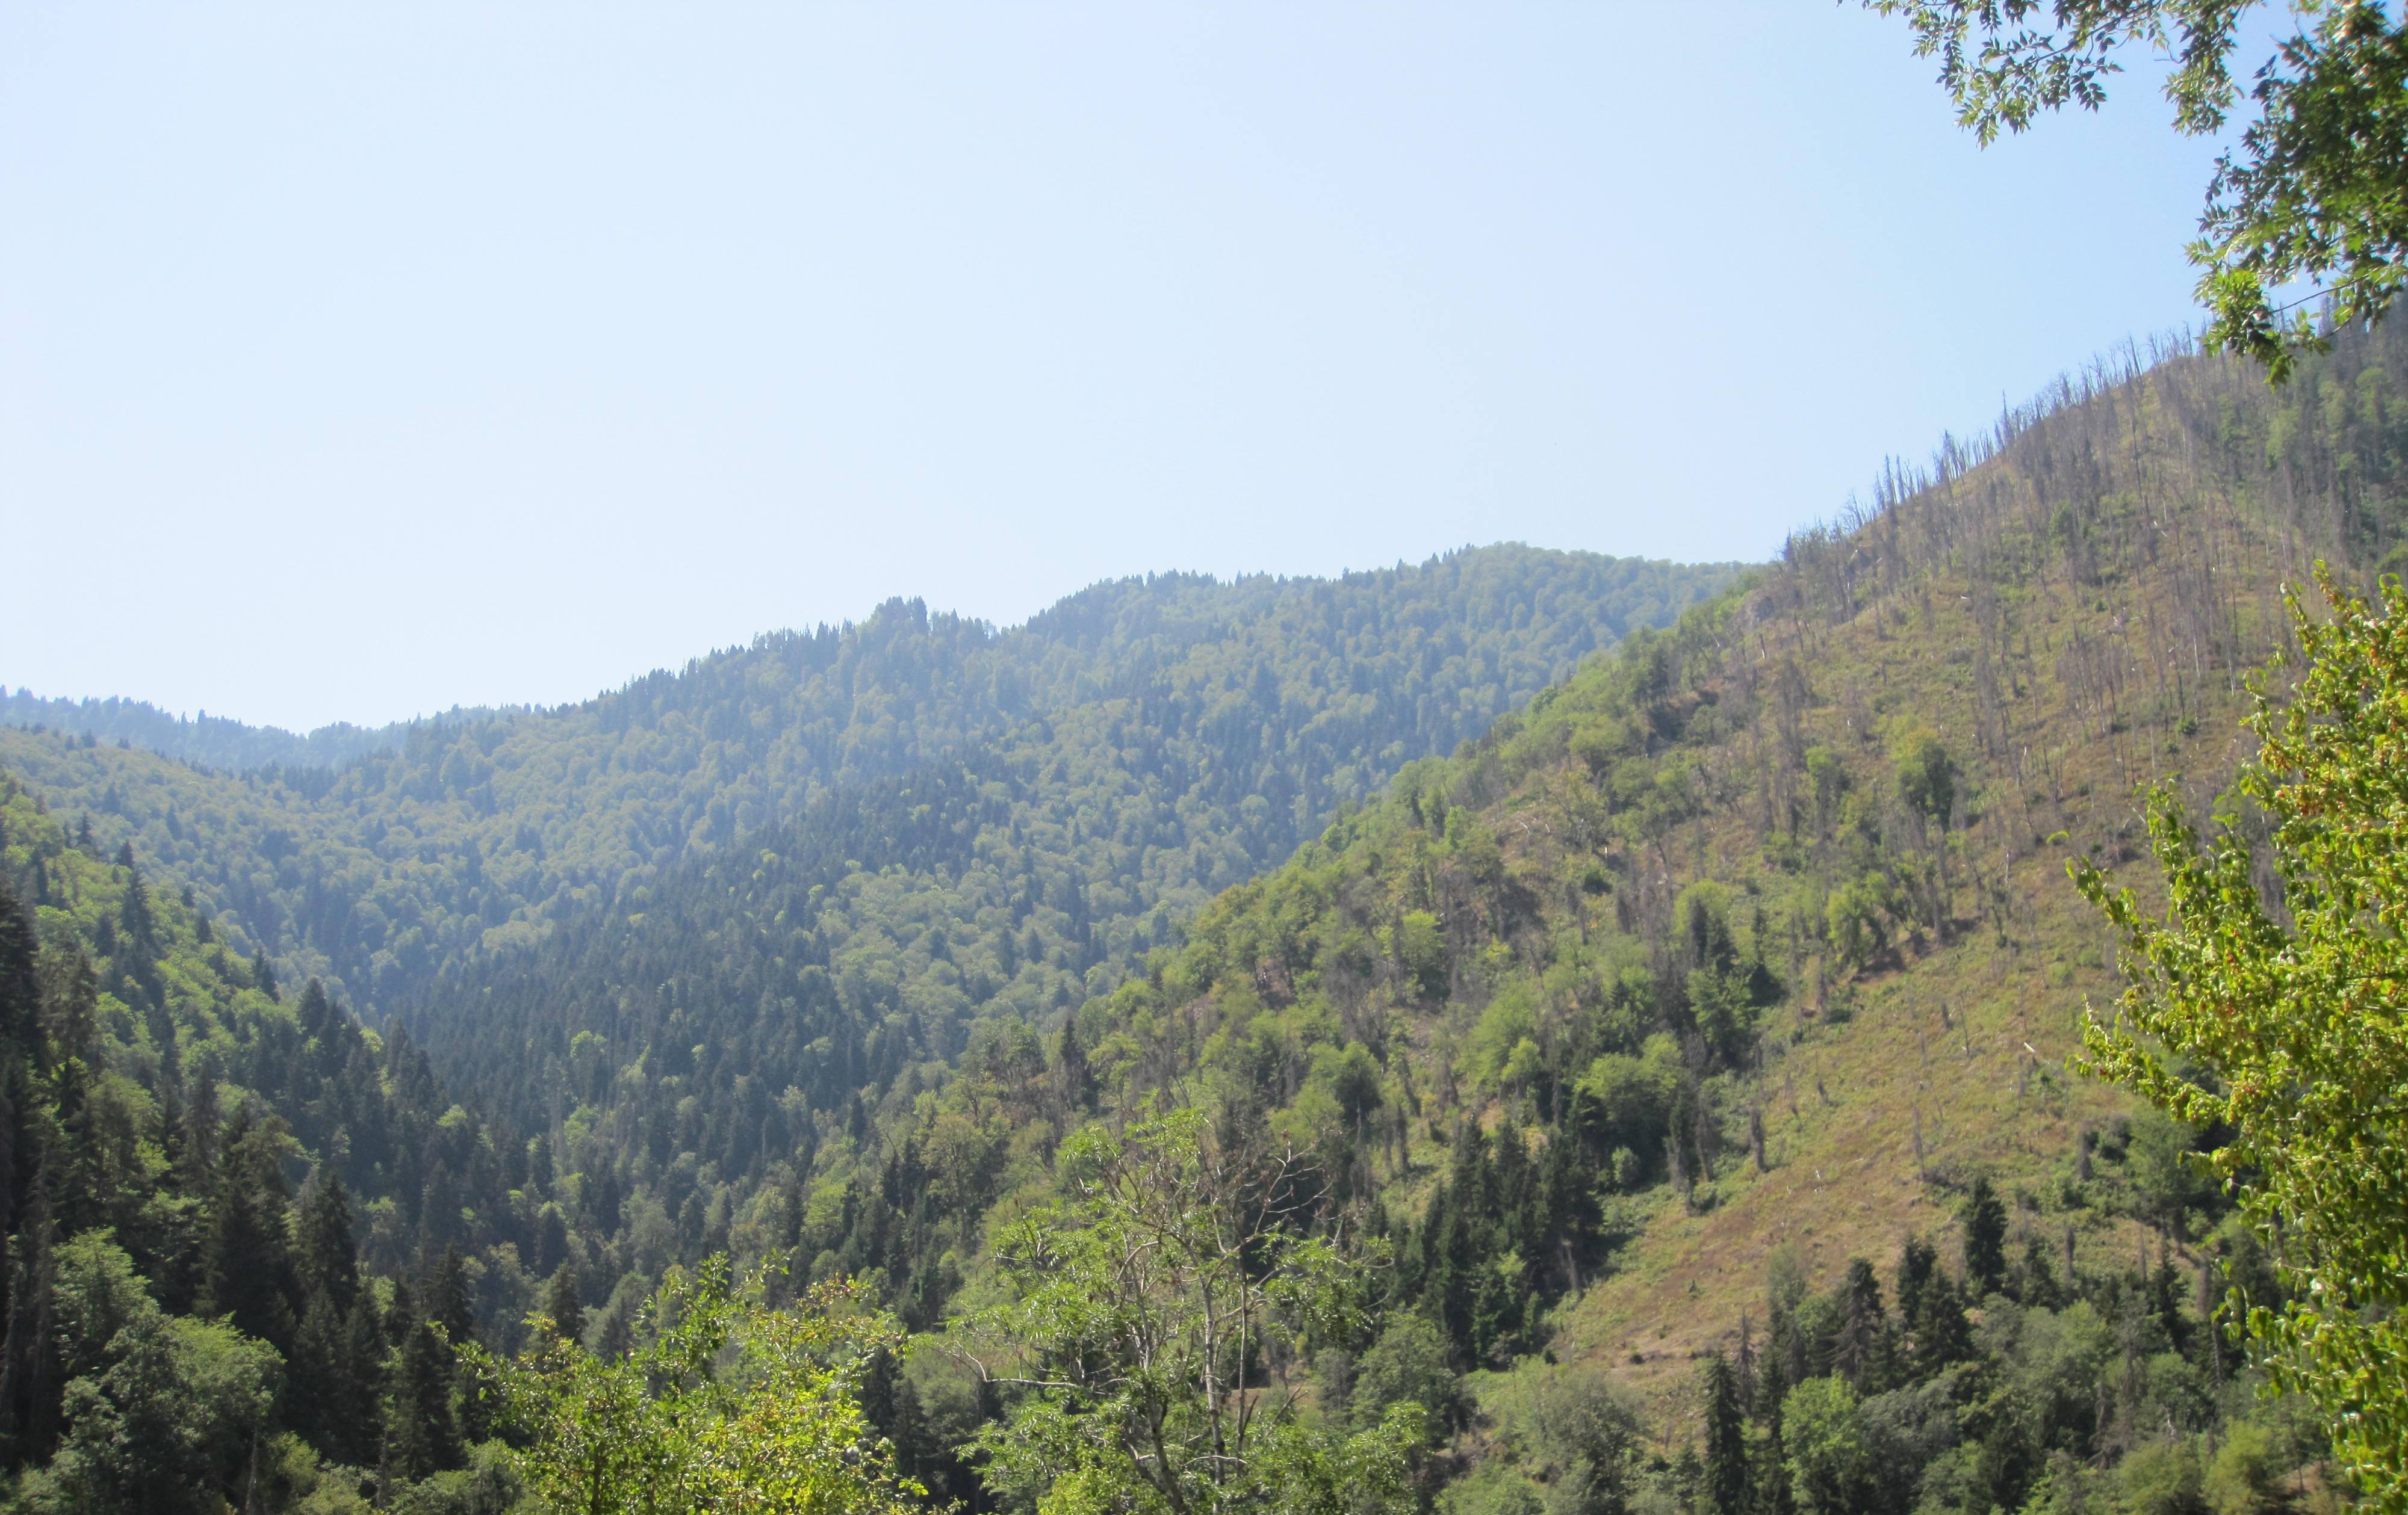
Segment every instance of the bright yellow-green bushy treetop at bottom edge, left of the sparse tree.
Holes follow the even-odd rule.
[[[602,1359],[537,1320],[518,1361],[474,1354],[525,1438],[520,1477],[559,1515],[879,1515],[925,1493],[855,1395],[869,1356],[898,1344],[848,1284],[797,1308],[730,1287],[727,1258],[669,1270],[636,1351]]]

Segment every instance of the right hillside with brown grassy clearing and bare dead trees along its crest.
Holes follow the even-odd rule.
[[[2280,392],[2102,366],[1409,765],[1050,1056],[973,1048],[874,1166],[821,1149],[799,1224],[766,1195],[732,1234],[908,1277],[922,1318],[954,1277],[985,1301],[1052,1142],[1170,1101],[1310,1154],[1296,1202],[1387,1243],[1380,1325],[1288,1371],[1356,1424],[1450,1404],[1459,1510],[1702,1498],[1698,1462],[1582,1416],[1635,1390],[1669,1452],[1734,1349],[1755,1426],[1729,1445],[1777,1460],[1792,1390],[1871,1438],[1830,1510],[2189,1508],[2225,1428],[2249,1467],[2314,1462],[2312,1426],[2249,1419],[2206,1318],[2211,1262],[2273,1287],[2184,1162],[2218,1135],[2064,1070],[2114,988],[2064,863],[2131,861],[2146,779],[2220,794],[2280,587],[2309,558],[2365,584],[2403,527],[2398,332],[2338,334]],[[877,1195],[908,1243],[864,1246]],[[939,1364],[929,1404],[961,1404]],[[2232,1508],[2288,1498],[2249,1489]]]

